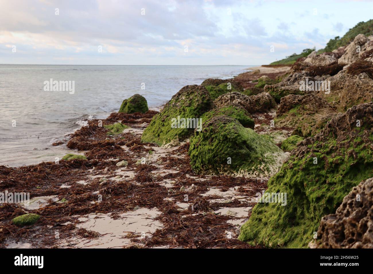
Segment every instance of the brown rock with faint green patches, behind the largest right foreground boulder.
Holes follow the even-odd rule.
[[[315,94],[288,95],[281,99],[275,116],[275,125],[294,127],[293,134],[311,136],[316,121],[335,109]]]

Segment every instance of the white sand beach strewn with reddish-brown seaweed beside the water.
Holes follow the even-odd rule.
[[[279,73],[278,69],[272,68],[266,71]],[[248,75],[253,78],[252,73],[244,72],[234,79]],[[261,74],[263,73],[254,77]],[[256,204],[256,193],[267,188],[268,178],[198,175],[189,165],[188,142],[181,142],[171,148],[141,143],[141,133],[156,113],[157,111],[150,110],[146,114],[110,114],[102,120],[103,125],[122,121],[130,126],[120,134],[120,138],[109,138],[110,140],[107,140],[107,130],[96,126],[97,119],[88,121],[88,126],[70,134],[70,139],[66,141],[71,141],[74,137],[80,138],[81,141],[75,147],[80,147],[78,154],[84,153],[89,161],[0,167],[0,179],[3,177],[1,174],[7,174],[8,179],[13,178],[13,181],[24,180],[23,174],[32,174],[32,177],[37,178],[34,183],[27,185],[8,185],[10,191],[20,191],[22,185],[23,191],[30,192],[32,209],[8,204],[0,217],[9,220],[14,215],[12,210],[42,216],[41,221],[30,229],[35,237],[25,241],[22,236],[9,236],[3,229],[0,239],[1,236],[8,239],[0,242],[0,246],[252,248],[237,239],[239,227],[248,220]],[[260,127],[260,123],[272,119],[273,115],[264,113],[254,116],[256,128]],[[153,153],[149,154],[149,151]],[[145,164],[137,164],[141,159],[146,159]],[[117,163],[123,160],[128,161],[128,166],[118,167]],[[123,188],[129,189],[128,192],[123,192]],[[156,196],[148,196],[154,191]],[[133,202],[132,198],[123,197],[126,193],[141,193],[138,199],[142,201]],[[98,195],[102,195],[103,201],[98,202]],[[185,195],[188,197],[187,201]],[[93,220],[101,221],[97,223]],[[172,234],[176,239],[185,237],[183,227],[174,227],[181,220],[185,220],[191,231],[201,227],[199,245],[195,245],[193,237],[188,236],[183,241],[173,243],[173,240],[164,236]],[[205,233],[209,229],[205,224],[211,222],[220,228],[210,231],[207,237]],[[11,226],[22,235],[22,228]],[[0,227],[4,227],[3,224]],[[128,232],[120,233],[122,228]],[[54,239],[55,233],[59,234],[59,239]],[[43,236],[44,239],[40,242],[37,239],[40,234],[50,236]],[[113,234],[116,235],[114,238]],[[216,240],[219,241],[215,242]]]

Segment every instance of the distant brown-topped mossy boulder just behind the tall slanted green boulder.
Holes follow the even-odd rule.
[[[211,100],[215,100],[220,95],[228,92],[242,92],[244,90],[242,86],[233,81],[233,79],[223,80],[209,78],[203,81],[201,85],[210,93]]]

